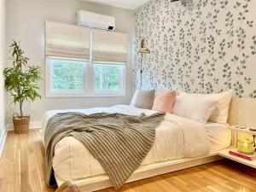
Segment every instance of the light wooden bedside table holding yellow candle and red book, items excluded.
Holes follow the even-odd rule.
[[[234,161],[236,161],[238,163],[241,163],[243,165],[251,166],[254,169],[256,169],[256,160],[244,160],[240,157],[236,157],[235,155],[230,154],[230,149],[236,148],[236,143],[237,143],[238,137],[241,137],[241,136],[238,136],[240,133],[242,133],[242,134],[245,133],[247,135],[251,135],[251,136],[253,136],[253,139],[254,139],[255,136],[256,136],[256,131],[250,131],[249,128],[240,129],[240,128],[237,128],[236,126],[230,126],[229,129],[232,131],[232,144],[233,144],[233,146],[230,147],[230,148],[225,148],[224,150],[219,151],[218,155],[223,156],[224,158],[227,158],[229,160],[234,160]]]

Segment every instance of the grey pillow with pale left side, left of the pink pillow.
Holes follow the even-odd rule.
[[[136,108],[152,109],[154,103],[154,90],[137,90],[131,99],[130,106]]]

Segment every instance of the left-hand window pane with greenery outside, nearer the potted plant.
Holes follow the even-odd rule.
[[[49,59],[50,92],[82,93],[84,88],[83,61]]]

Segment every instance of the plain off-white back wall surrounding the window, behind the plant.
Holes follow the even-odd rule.
[[[75,24],[75,12],[79,9],[103,15],[113,15],[116,18],[116,31],[129,34],[131,55],[135,23],[134,12],[77,0],[8,0],[7,45],[11,43],[12,39],[20,40],[21,47],[25,49],[26,55],[31,58],[32,63],[42,67],[44,77],[44,20]],[[131,62],[132,58],[130,57],[125,97],[46,98],[44,96],[44,81],[42,81],[40,83],[42,100],[30,103],[26,113],[31,113],[32,121],[38,121],[43,113],[49,109],[90,108],[128,103],[131,99],[132,90]],[[7,96],[8,122],[11,121],[12,113],[17,111],[17,108],[10,105],[11,99],[10,96]]]

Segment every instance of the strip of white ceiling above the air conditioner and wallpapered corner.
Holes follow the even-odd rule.
[[[81,0],[84,2],[102,3],[113,7],[124,8],[124,9],[137,9],[148,0]]]

